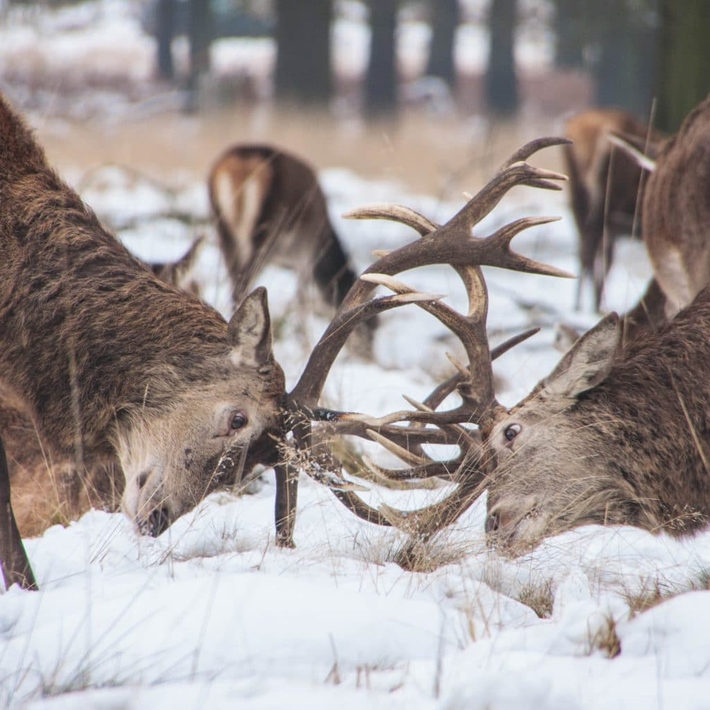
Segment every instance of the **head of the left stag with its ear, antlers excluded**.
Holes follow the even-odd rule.
[[[234,485],[259,461],[275,462],[283,371],[271,351],[266,290],[247,296],[228,342],[192,367],[185,383],[163,367],[151,402],[120,417],[116,451],[126,476],[122,506],[141,532],[159,535],[208,493]]]

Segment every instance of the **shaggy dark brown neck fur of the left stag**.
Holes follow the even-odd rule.
[[[131,256],[2,97],[0,204],[0,377],[45,441],[105,453],[114,422],[165,405],[178,373],[207,381],[222,317]]]

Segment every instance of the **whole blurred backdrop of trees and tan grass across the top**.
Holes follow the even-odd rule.
[[[203,175],[260,141],[452,195],[588,107],[674,131],[709,26],[708,0],[0,0],[0,90],[59,165]]]

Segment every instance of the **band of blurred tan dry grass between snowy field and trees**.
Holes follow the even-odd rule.
[[[342,167],[364,178],[396,180],[442,197],[475,190],[525,140],[555,133],[555,121],[485,126],[466,117],[408,111],[397,123],[363,124],[332,114],[239,107],[186,116],[178,111],[111,121],[45,122],[38,138],[60,170],[82,173],[104,163],[130,165],[155,178],[175,171],[207,175],[212,160],[236,142],[268,142],[307,156],[317,168]],[[562,164],[557,151],[547,168]],[[559,165],[555,164],[559,161]]]

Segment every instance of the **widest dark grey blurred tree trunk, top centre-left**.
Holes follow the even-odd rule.
[[[332,96],[332,0],[276,0],[275,8],[276,98],[327,104]]]

